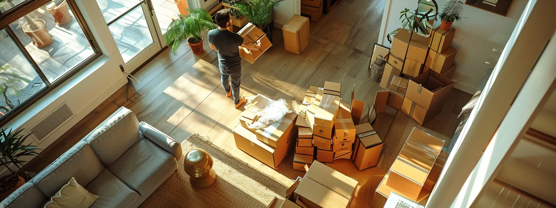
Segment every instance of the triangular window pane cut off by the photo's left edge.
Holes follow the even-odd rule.
[[[6,29],[0,31],[0,118],[46,85]]]

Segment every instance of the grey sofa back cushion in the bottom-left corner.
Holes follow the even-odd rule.
[[[31,182],[26,182],[16,191],[10,194],[6,199],[0,202],[0,207],[6,208],[39,208],[42,207],[47,197],[42,194],[37,186]]]

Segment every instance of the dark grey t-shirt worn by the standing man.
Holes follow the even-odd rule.
[[[241,69],[241,58],[238,46],[243,44],[243,37],[228,30],[213,29],[207,35],[209,43],[218,51],[218,60],[222,69]]]

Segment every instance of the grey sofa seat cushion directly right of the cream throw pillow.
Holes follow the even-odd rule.
[[[139,199],[140,195],[127,187],[108,169],[102,171],[93,181],[85,186],[98,199],[90,207],[126,207]]]

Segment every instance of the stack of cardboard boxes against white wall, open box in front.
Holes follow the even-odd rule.
[[[455,29],[437,27],[429,37],[411,35],[404,28],[397,31],[380,87],[389,91],[388,105],[423,125],[440,113],[453,87],[456,49],[450,44]]]

